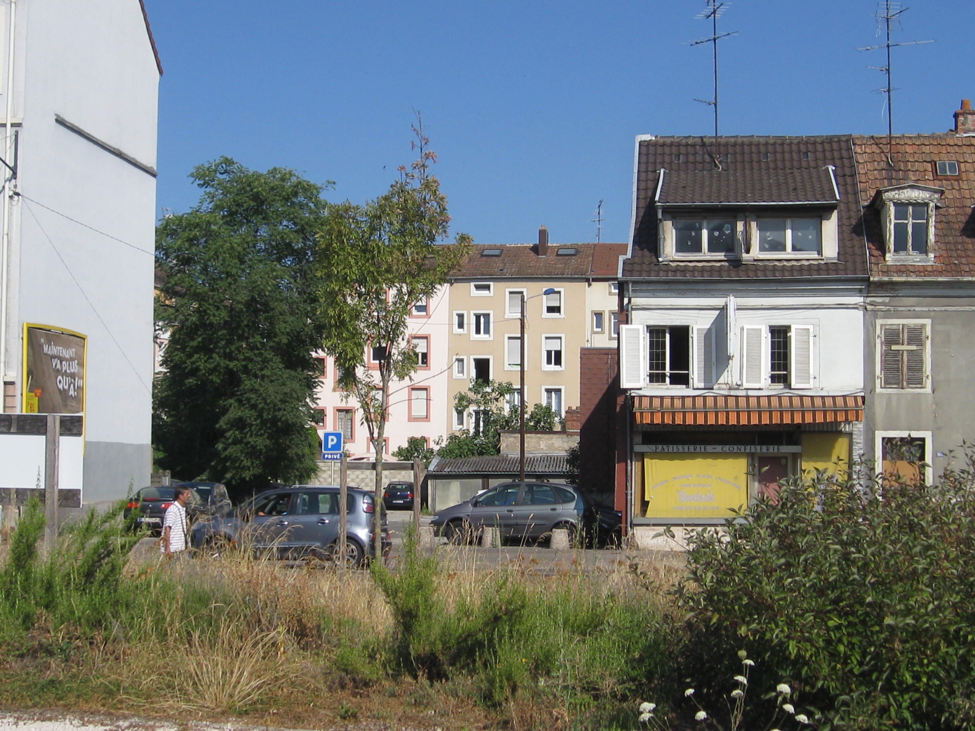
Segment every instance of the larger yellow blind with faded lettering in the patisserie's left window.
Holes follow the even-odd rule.
[[[646,518],[728,518],[748,503],[745,454],[643,456]]]

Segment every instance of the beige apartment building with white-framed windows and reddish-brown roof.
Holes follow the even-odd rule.
[[[474,414],[452,407],[472,380],[510,381],[518,389],[523,293],[526,406],[549,404],[562,416],[578,406],[579,350],[610,342],[616,309],[610,282],[625,252],[615,244],[549,245],[544,226],[534,246],[474,247],[449,284],[451,431],[474,427]]]

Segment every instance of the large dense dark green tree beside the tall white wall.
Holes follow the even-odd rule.
[[[156,232],[165,275],[156,321],[169,331],[154,394],[158,462],[237,494],[306,481],[315,473],[313,255],[324,187],[226,157],[190,177],[199,204]]]

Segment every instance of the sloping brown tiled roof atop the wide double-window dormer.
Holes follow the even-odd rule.
[[[666,171],[660,186],[661,204],[734,205],[761,203],[837,202],[833,177],[825,168],[763,171]]]

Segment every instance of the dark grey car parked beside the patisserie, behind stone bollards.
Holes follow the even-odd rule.
[[[562,482],[504,482],[465,503],[439,511],[431,525],[450,543],[474,540],[486,527],[502,539],[538,540],[554,528],[574,538],[587,528],[592,512],[577,487]]]

